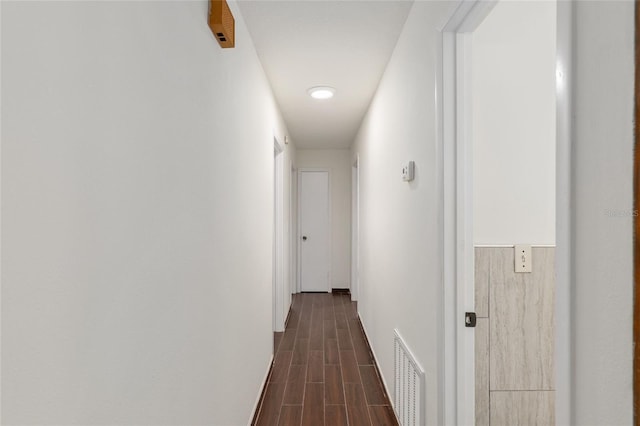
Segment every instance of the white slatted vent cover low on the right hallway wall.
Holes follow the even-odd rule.
[[[398,330],[394,330],[395,392],[393,408],[401,426],[422,426],[424,412],[424,370],[407,347]]]

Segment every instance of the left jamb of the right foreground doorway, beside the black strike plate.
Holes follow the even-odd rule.
[[[465,312],[475,310],[473,155],[471,143],[471,34],[496,1],[461,1],[441,29],[438,141],[442,155],[443,312],[440,424],[475,424],[475,334]]]

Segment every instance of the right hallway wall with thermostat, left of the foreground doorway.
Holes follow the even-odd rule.
[[[393,329],[426,371],[427,421],[438,423],[442,255],[437,150],[436,62],[439,28],[455,2],[416,2],[352,149],[359,154],[358,309],[393,384]],[[403,182],[413,160],[416,179]],[[389,389],[393,392],[393,389]]]

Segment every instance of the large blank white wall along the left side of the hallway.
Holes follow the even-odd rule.
[[[3,2],[3,424],[249,421],[285,130],[231,7]]]

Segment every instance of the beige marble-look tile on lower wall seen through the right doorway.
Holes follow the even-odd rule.
[[[533,271],[514,272],[514,249],[477,247],[476,424],[553,424],[555,249],[532,249]]]

